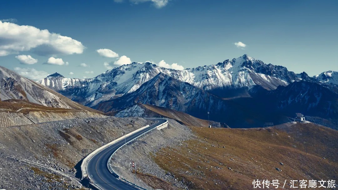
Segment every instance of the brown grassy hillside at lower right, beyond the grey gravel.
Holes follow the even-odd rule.
[[[196,139],[163,148],[154,156],[162,168],[184,179],[189,189],[252,189],[254,179],[283,184],[285,180],[338,180],[338,131],[330,128],[297,123],[192,130]]]

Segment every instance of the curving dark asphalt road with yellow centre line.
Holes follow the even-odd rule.
[[[126,137],[126,141],[128,142],[129,140],[140,136],[144,132],[149,131],[155,128],[156,126],[166,122],[165,119],[160,118],[148,120],[156,120],[158,121],[158,123],[155,123],[142,131],[132,134],[129,137]],[[107,168],[108,159],[123,144],[124,139],[116,142],[115,144],[112,144],[111,146],[106,147],[105,149],[94,155],[88,162],[87,165],[88,176],[97,186],[99,186],[104,190],[135,190],[135,188],[132,187],[131,185],[121,182],[120,180],[115,178]]]

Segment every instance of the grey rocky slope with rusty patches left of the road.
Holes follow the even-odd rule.
[[[82,149],[91,152],[148,124],[142,118],[107,117],[1,128],[0,189],[79,188]]]

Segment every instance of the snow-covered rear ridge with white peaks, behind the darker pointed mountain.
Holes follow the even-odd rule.
[[[114,68],[93,79],[65,78],[55,73],[38,82],[74,101],[92,107],[100,102],[134,92],[159,73],[187,82],[219,97],[237,96],[237,92],[233,93],[234,90],[250,89],[256,85],[272,90],[277,86],[301,80],[298,75],[283,66],[265,64],[243,55],[231,61],[225,60],[183,71],[166,69],[149,62],[142,64],[134,62]]]

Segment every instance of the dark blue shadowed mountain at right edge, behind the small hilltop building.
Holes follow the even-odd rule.
[[[338,119],[338,94],[318,83],[298,81],[275,90],[256,90],[253,98],[264,109],[292,116],[296,112]]]

